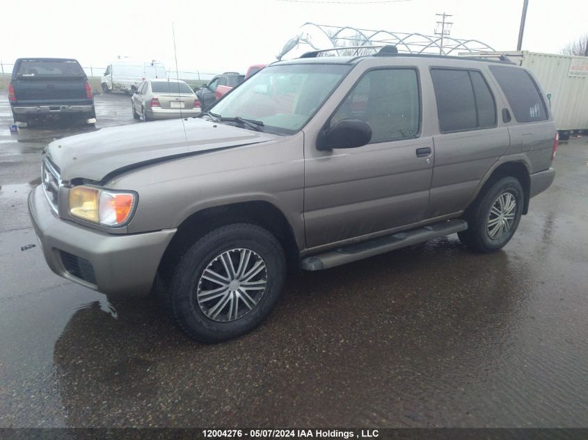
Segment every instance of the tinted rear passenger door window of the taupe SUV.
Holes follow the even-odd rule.
[[[495,127],[496,105],[480,72],[431,69],[431,76],[440,131],[447,133]]]

